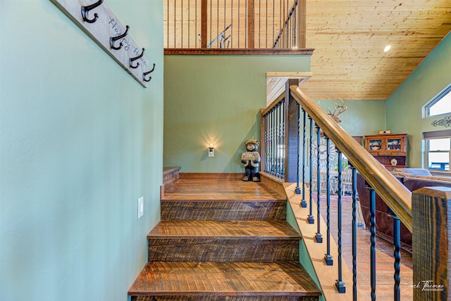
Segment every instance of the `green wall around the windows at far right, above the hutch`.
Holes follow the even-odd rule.
[[[451,83],[450,70],[451,34],[448,34],[386,101],[387,129],[392,133],[409,134],[410,167],[422,167],[422,133],[445,129],[431,125],[443,115],[422,118],[422,112],[424,105]]]

